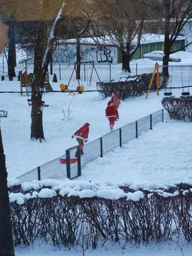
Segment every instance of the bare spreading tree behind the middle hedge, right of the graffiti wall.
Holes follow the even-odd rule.
[[[122,70],[131,72],[130,60],[140,47],[144,20],[148,17],[148,1],[92,0],[92,2],[100,11],[100,19],[104,19],[108,40],[120,46]]]

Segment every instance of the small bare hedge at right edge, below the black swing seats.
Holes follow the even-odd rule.
[[[192,122],[192,96],[164,97],[161,103],[170,118]]]

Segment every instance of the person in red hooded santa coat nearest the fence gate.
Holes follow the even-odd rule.
[[[79,128],[79,130],[77,130],[73,135],[72,135],[72,139],[74,137],[76,137],[77,142],[79,143],[79,147],[81,149],[81,155],[83,155],[83,146],[84,143],[86,143],[88,141],[88,134],[90,131],[90,124],[86,123],[84,124],[81,128]],[[76,157],[77,157],[77,152],[76,152]]]

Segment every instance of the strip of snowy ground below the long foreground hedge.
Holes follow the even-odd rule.
[[[15,256],[191,256],[191,244],[185,243],[178,238],[177,242],[170,241],[168,243],[150,243],[147,247],[141,244],[140,247],[132,244],[124,243],[105,243],[104,246],[100,244],[96,250],[83,250],[81,248],[72,248],[70,251],[66,248],[52,247],[43,244],[42,241],[35,243],[35,246],[16,247]]]

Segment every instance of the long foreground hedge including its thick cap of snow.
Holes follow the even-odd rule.
[[[35,180],[10,193],[13,241],[97,247],[106,239],[135,244],[184,236],[192,241],[191,184],[111,184]],[[36,190],[36,191],[35,191]]]

